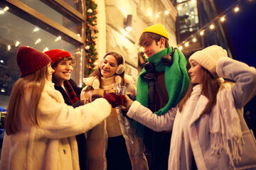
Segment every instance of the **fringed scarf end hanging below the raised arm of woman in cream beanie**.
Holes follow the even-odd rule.
[[[230,164],[238,162],[242,153],[242,130],[240,118],[235,108],[232,88],[233,84],[221,84],[217,94],[217,103],[210,114],[210,142],[212,154],[219,153],[221,149],[230,157]],[[230,141],[231,145],[228,145]]]

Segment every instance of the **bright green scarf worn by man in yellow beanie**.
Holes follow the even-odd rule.
[[[168,47],[155,55],[148,58],[148,61],[153,63],[156,67],[156,72],[165,72],[164,79],[166,90],[169,95],[169,101],[164,106],[164,108],[159,109],[159,111],[154,112],[156,115],[164,115],[170,108],[175,107],[181,98],[184,96],[188,89],[190,79],[188,77],[188,72],[186,70],[186,58],[182,54],[181,50],[175,48],[173,63],[171,67],[168,67],[161,62],[161,57],[167,54],[171,54],[172,47]],[[142,69],[139,74],[137,81],[137,96],[136,101],[139,101],[143,106],[148,106],[149,98],[149,87],[147,79],[144,79],[146,74],[146,69]],[[133,121],[133,127],[135,128],[136,135],[139,137],[144,137],[144,125]]]

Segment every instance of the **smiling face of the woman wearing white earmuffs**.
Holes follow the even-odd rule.
[[[100,73],[104,78],[112,77],[117,67],[117,59],[113,55],[107,55],[100,64]]]

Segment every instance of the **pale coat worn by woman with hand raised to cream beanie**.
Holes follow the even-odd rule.
[[[248,67],[242,62],[224,57],[218,60],[216,71],[220,77],[235,81],[235,86],[228,89],[228,91],[230,91],[229,97],[233,98],[235,101],[233,105],[240,118],[242,134],[250,133],[243,118],[242,108],[256,94],[255,68]],[[192,96],[193,93],[191,94],[191,98]],[[188,101],[191,98],[189,98]],[[223,103],[229,101],[227,96],[220,96],[217,100],[220,100]],[[201,101],[201,103],[198,104],[198,111],[203,111],[203,108],[205,108],[207,104],[207,98],[202,99]],[[186,105],[184,106],[183,111],[186,111]],[[213,111],[215,110],[213,109],[210,114],[214,114]],[[137,120],[139,123],[146,125],[152,130],[173,130],[169,154],[170,170],[192,169],[191,162],[193,158],[196,161],[198,169],[232,169],[229,157],[223,150],[219,154],[212,154],[211,152],[209,133],[210,114],[202,116],[200,113],[194,113],[193,115],[188,116],[189,114],[179,113],[177,108],[171,108],[165,115],[157,116],[152,114],[149,109],[145,108],[137,101],[132,103],[129,112],[127,113],[130,118]],[[184,119],[183,116],[188,117]],[[176,133],[178,130],[175,130],[178,127],[179,120],[188,122],[186,125],[187,129],[184,128],[186,130],[183,131],[184,133],[181,136],[177,135]],[[181,147],[179,150],[180,153],[177,153],[178,149],[176,149],[176,146],[173,146],[177,143],[173,141],[174,139],[177,139],[177,137],[181,137],[182,141],[179,145]],[[244,140],[246,139],[244,138]],[[246,141],[245,145],[242,147],[243,149],[247,147]],[[250,145],[248,147],[250,147]],[[253,154],[255,153],[251,153],[248,157],[254,157]],[[180,155],[180,157],[176,157],[177,155]],[[176,165],[178,165],[178,167],[174,168]],[[244,166],[246,166],[246,164]],[[256,165],[254,165],[254,167],[255,166]]]

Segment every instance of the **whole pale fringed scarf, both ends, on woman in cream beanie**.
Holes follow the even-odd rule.
[[[234,160],[240,160],[239,154],[242,152],[242,130],[231,87],[229,83],[221,84],[216,105],[210,112],[209,128],[211,154],[224,149],[230,157],[230,164],[234,167]],[[191,143],[188,134],[189,125],[200,117],[208,103],[208,99],[201,94],[201,90],[201,85],[194,86],[182,113],[176,114],[169,157],[171,169],[180,168],[181,142],[184,140],[186,146]],[[228,141],[231,145],[228,145]]]

